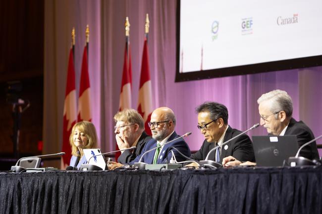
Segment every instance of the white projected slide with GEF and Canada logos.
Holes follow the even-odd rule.
[[[322,55],[322,0],[180,0],[177,73]]]

